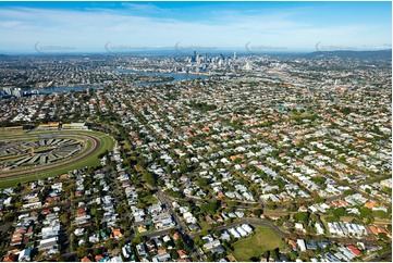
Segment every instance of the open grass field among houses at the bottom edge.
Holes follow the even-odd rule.
[[[253,256],[275,248],[283,248],[284,241],[268,226],[254,226],[255,234],[233,245],[233,255],[237,261],[250,261]]]

